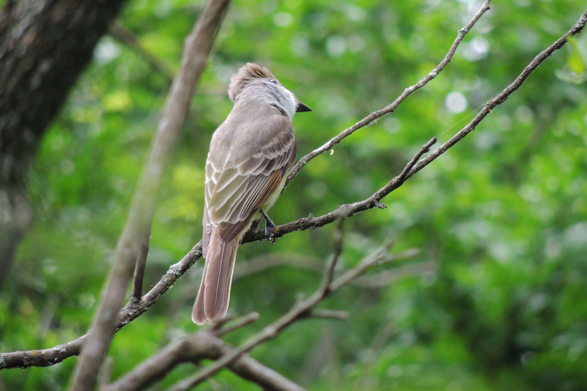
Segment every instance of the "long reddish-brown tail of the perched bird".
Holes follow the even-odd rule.
[[[212,322],[226,314],[239,239],[240,235],[237,235],[229,242],[223,242],[218,230],[212,229],[200,290],[191,312],[195,324]]]

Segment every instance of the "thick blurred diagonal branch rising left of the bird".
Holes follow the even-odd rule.
[[[134,193],[126,226],[114,252],[110,274],[102,290],[102,300],[94,314],[92,329],[82,356],[77,361],[71,390],[92,390],[106,351],[116,330],[116,315],[137,259],[143,239],[149,236],[157,190],[190,108],[195,84],[207,64],[214,35],[230,0],[210,0],[185,39],[181,69],[157,125],[149,160]]]

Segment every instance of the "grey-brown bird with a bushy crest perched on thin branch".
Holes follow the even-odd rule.
[[[232,75],[234,107],[212,135],[206,161],[204,275],[191,318],[201,325],[226,314],[238,243],[253,221],[265,219],[296,159],[292,118],[312,111],[266,68],[247,63]]]

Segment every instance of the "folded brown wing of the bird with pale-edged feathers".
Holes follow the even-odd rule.
[[[278,188],[294,165],[296,141],[289,118],[272,115],[262,124],[265,142],[258,147],[231,145],[250,152],[220,167],[208,156],[206,164],[204,247],[212,226],[224,242],[232,240],[249,223],[253,213]],[[238,140],[236,141],[238,143]],[[224,160],[228,161],[228,158]]]

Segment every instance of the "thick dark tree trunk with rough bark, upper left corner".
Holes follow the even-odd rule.
[[[0,288],[31,221],[41,136],[125,0],[8,0],[0,11]]]

